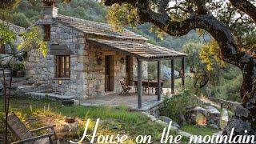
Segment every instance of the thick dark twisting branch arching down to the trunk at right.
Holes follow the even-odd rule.
[[[244,75],[241,96],[246,96],[246,92],[252,90],[250,85],[252,82],[256,82],[256,59],[250,54],[238,50],[230,29],[213,15],[193,13],[190,14],[189,18],[177,22],[166,14],[159,14],[150,10],[148,0],[138,0],[137,6],[141,22],[151,22],[172,36],[186,35],[194,29],[206,30],[218,42],[222,60],[238,66],[242,70]]]

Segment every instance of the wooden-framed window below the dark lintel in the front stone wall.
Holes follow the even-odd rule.
[[[56,77],[70,78],[70,56],[68,55],[56,56]]]

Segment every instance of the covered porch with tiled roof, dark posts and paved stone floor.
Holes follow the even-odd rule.
[[[89,42],[96,46],[106,47],[107,49],[116,51],[121,54],[126,54],[131,57],[134,57],[137,59],[138,68],[137,68],[137,74],[138,78],[136,79],[136,85],[137,85],[137,93],[132,94],[133,97],[122,97],[118,98],[122,99],[122,102],[125,102],[126,105],[130,105],[132,103],[132,107],[134,105],[137,106],[138,109],[145,109],[147,105],[149,105],[149,102],[161,102],[162,101],[162,83],[161,83],[161,61],[162,60],[170,60],[170,67],[171,67],[171,84],[170,84],[170,91],[171,94],[174,94],[174,62],[175,59],[182,59],[182,68],[180,69],[180,74],[178,78],[182,78],[182,87],[185,85],[185,57],[186,54],[183,54],[181,52],[166,49],[160,46],[154,46],[146,42],[139,42],[139,41],[115,41],[115,40],[106,40],[106,39],[96,39],[96,38],[87,38],[86,42]],[[142,61],[146,62],[157,62],[157,97],[154,97],[150,94],[143,94],[142,90]],[[115,94],[114,94],[115,95]],[[113,96],[114,96],[113,95]],[[136,95],[136,97],[134,97]],[[143,96],[142,96],[143,95]],[[115,95],[117,96],[117,95]],[[134,98],[136,101],[134,101]],[[104,101],[105,99],[105,101]],[[113,97],[113,99],[115,99]],[[126,101],[123,101],[123,99],[126,99]],[[91,102],[111,102],[111,96],[108,96],[106,98],[92,98]],[[86,102],[90,103],[90,99]],[[120,101],[121,102],[121,101]],[[127,103],[128,102],[128,103]],[[118,103],[118,102],[117,102]],[[130,103],[130,104],[129,104]],[[84,104],[86,105],[86,104]],[[110,104],[111,105],[111,104]]]

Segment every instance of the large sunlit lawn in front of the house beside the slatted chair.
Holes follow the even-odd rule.
[[[151,122],[146,115],[131,111],[126,106],[62,106],[58,102],[46,100],[11,98],[10,112],[18,114],[29,129],[56,123],[65,116],[80,118],[83,124],[86,118],[90,118],[93,122],[96,122],[96,118],[101,118],[97,134],[127,134],[130,138],[128,143],[134,143],[138,135],[151,135],[154,142],[159,143],[164,128],[158,123]],[[0,98],[0,117],[3,115],[4,100]],[[118,129],[112,129],[111,126],[118,126]],[[89,127],[90,134],[93,128],[94,126]],[[82,136],[83,130],[83,126],[79,126],[78,137]],[[0,124],[0,133],[1,131],[3,131],[2,124]],[[174,131],[170,134],[176,135]]]

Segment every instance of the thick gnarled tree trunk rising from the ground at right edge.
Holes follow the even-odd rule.
[[[242,104],[234,112],[224,135],[230,136],[232,128],[235,135],[256,135],[256,61],[247,59],[247,65],[242,70],[243,82],[241,86]]]

